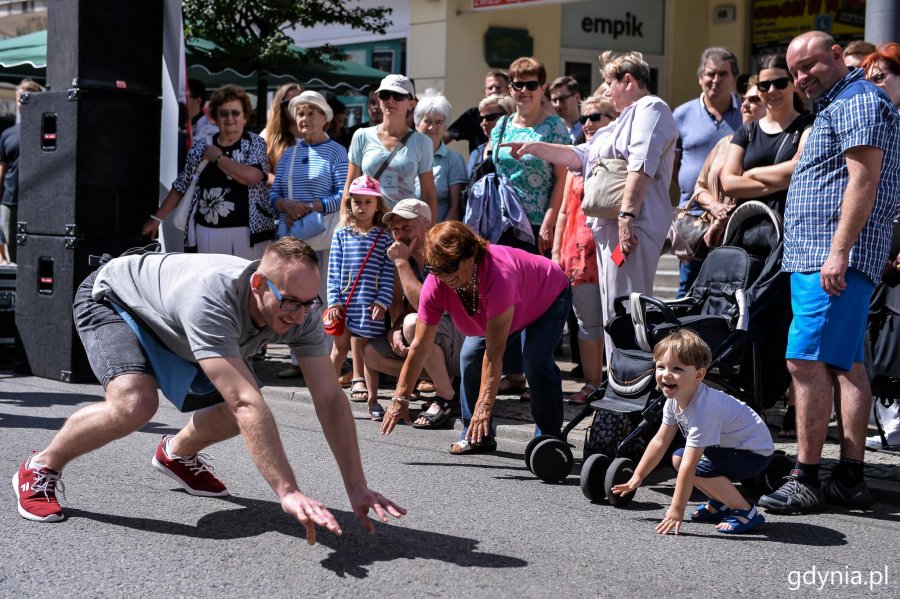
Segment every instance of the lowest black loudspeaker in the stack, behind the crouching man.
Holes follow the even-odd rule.
[[[19,246],[16,277],[16,325],[31,373],[66,382],[92,382],[72,319],[72,301],[82,281],[96,268],[91,256],[144,245],[137,237],[81,239],[28,235]]]

